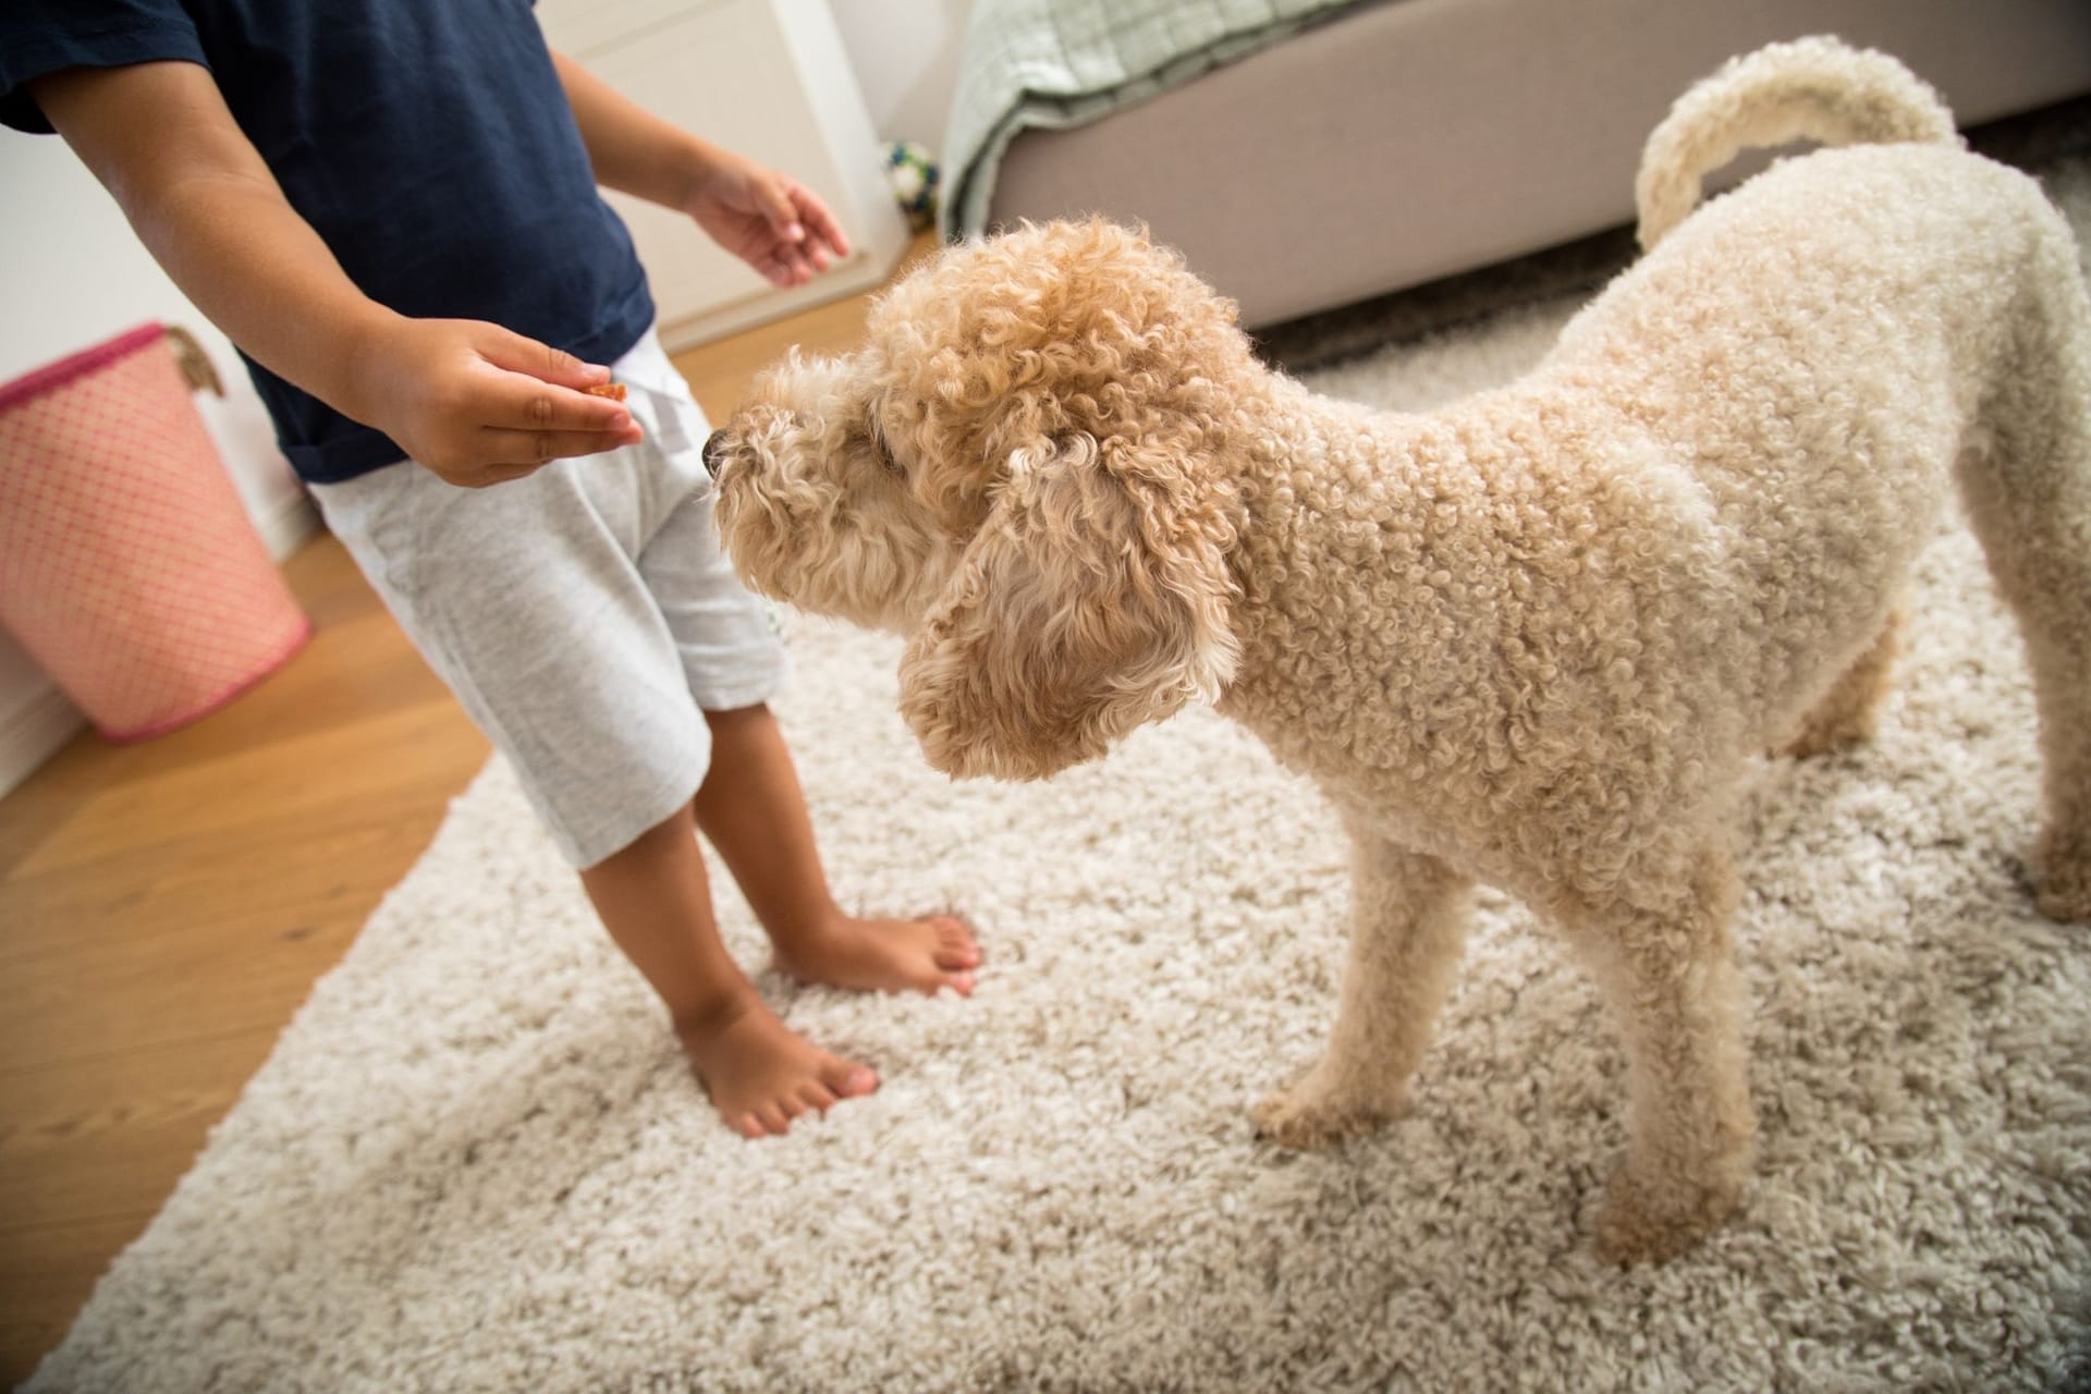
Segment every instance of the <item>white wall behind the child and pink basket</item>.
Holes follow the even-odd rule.
[[[943,142],[970,0],[836,0],[834,17],[887,140]],[[282,558],[314,529],[232,345],[138,245],[100,184],[56,136],[0,127],[0,380],[146,320],[197,334],[228,399],[197,397],[255,527]],[[0,794],[79,729],[79,713],[0,631]]]

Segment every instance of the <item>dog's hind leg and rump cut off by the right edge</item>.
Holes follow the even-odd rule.
[[[2060,222],[2060,219],[2058,219]],[[1961,454],[1961,495],[2018,614],[2041,721],[2039,907],[2091,920],[2091,299],[2051,238]]]

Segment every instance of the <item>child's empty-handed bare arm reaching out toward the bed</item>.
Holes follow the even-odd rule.
[[[778,286],[803,286],[849,255],[849,238],[813,190],[663,121],[565,54],[552,63],[606,188],[688,213]]]

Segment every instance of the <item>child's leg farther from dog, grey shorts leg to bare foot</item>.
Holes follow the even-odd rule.
[[[481,491],[393,464],[314,493],[416,648],[516,767],[558,851],[588,867],[581,882],[604,928],[661,993],[721,1112],[742,1133],[776,1133],[878,1081],[786,1030],[719,945],[692,813],[713,738],[621,545],[652,531],[650,491],[634,483],[644,481],[640,449]],[[746,773],[738,784],[761,788]],[[797,800],[797,782],[788,790]],[[761,878],[751,872],[751,882]]]

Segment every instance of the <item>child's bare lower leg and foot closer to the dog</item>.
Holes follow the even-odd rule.
[[[799,773],[767,706],[709,711],[711,771],[696,823],[769,930],[778,966],[809,982],[859,991],[972,993],[981,951],[951,915],[859,920],[828,890]]]

